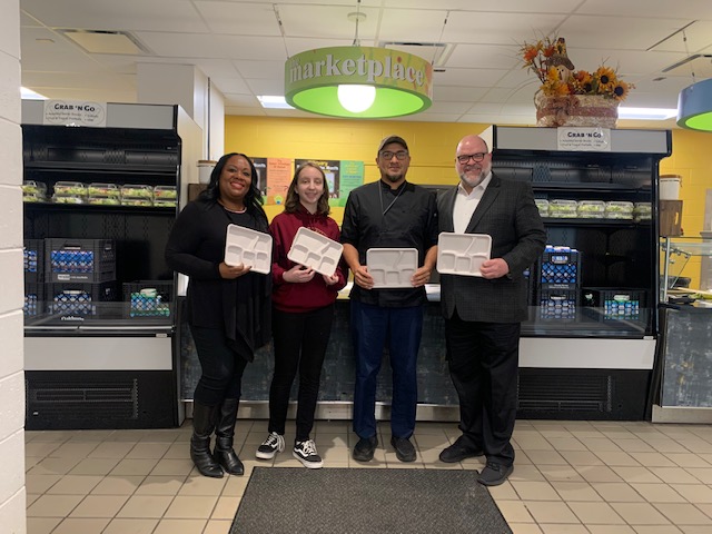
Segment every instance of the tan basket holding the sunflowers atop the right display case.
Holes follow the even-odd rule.
[[[599,95],[547,97],[538,92],[534,103],[536,105],[536,126],[615,128],[620,102]]]

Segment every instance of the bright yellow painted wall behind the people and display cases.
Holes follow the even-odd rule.
[[[396,134],[411,149],[409,181],[455,185],[457,141],[467,134],[482,132],[487,126],[229,116],[225,123],[225,151],[254,157],[363,160],[365,180],[374,181],[378,179],[375,165],[378,142]],[[712,188],[712,135],[675,129],[672,139],[673,154],[661,161],[660,171],[682,177],[682,227],[685,236],[699,236],[704,220],[705,190]],[[281,209],[281,206],[266,207],[270,218]],[[344,208],[333,208],[332,215],[340,224]],[[695,269],[692,277],[696,279],[699,264]],[[690,274],[685,273],[685,276]]]

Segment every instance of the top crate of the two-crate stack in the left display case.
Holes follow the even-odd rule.
[[[112,239],[44,240],[47,281],[101,283],[116,279],[116,247]]]

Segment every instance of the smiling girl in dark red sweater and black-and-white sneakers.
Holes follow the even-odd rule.
[[[306,467],[324,465],[309,433],[319,394],[319,378],[332,330],[336,294],[346,285],[346,268],[339,263],[327,277],[287,259],[297,230],[310,230],[339,241],[338,225],[329,214],[329,190],[319,166],[304,164],[287,190],[285,210],[273,219],[273,337],[275,374],[269,388],[269,436],[256,456],[270,459],[285,448],[285,422],[289,392],[299,372],[297,434],[293,455]]]

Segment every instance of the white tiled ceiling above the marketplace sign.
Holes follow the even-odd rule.
[[[289,56],[352,44],[347,16],[357,0],[20,0],[20,8],[22,85],[49,98],[135,102],[137,63],[180,63],[210,78],[228,115],[305,117],[263,109],[256,96],[284,95]],[[518,49],[541,36],[566,38],[578,69],[617,67],[636,86],[625,101],[632,107],[675,108],[692,69],[663,70],[712,55],[710,0],[363,0],[358,9],[367,16],[362,46],[447,46],[432,108],[405,120],[534,123],[538,80],[521,68]],[[88,53],[65,29],[128,31],[147,52]],[[694,65],[698,81],[712,76],[709,59]]]

